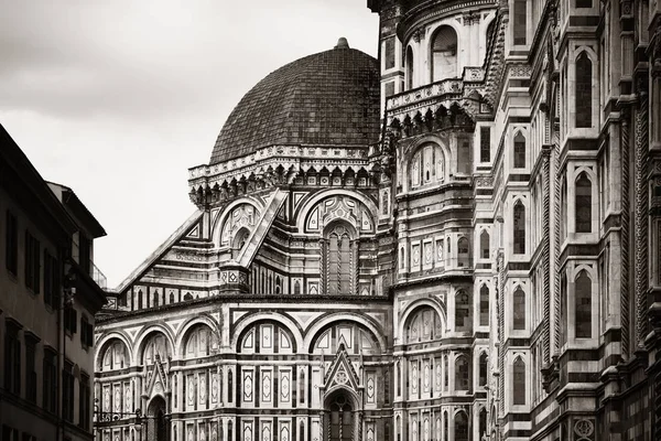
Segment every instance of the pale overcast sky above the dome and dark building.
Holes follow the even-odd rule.
[[[373,56],[367,0],[0,0],[0,122],[104,225],[119,284],[194,211],[206,163],[257,82],[339,36]]]

